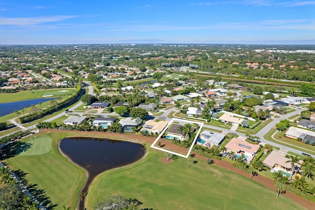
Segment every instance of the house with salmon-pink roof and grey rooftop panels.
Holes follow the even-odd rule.
[[[225,148],[228,151],[233,151],[236,153],[236,155],[244,154],[245,156],[253,157],[258,149],[258,144],[252,144],[245,140],[240,140],[237,138],[231,139],[226,145]]]

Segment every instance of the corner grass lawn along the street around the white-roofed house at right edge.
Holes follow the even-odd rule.
[[[276,140],[274,140],[273,138],[271,138],[271,136],[277,131],[277,129],[271,129],[270,131],[268,131],[266,133],[266,135],[264,136],[264,138],[266,140],[269,140],[271,142],[275,142],[275,143],[279,143],[279,144],[282,144],[284,146],[288,146],[288,147],[291,147],[291,148],[294,148],[294,149],[298,149],[298,150],[301,150],[305,153],[308,153],[308,154],[312,154],[312,155],[315,155],[315,147],[312,146],[312,145],[308,145],[308,144],[305,144],[305,143],[301,143],[297,140],[293,140],[293,139],[289,139],[289,138],[285,138],[283,135],[284,135],[284,131],[278,131],[276,135],[274,135],[274,138]],[[288,145],[287,143],[289,144],[292,144],[292,145]],[[311,151],[310,151],[311,150]]]

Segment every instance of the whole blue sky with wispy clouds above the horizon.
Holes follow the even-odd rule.
[[[0,1],[0,44],[89,43],[315,44],[315,0]]]

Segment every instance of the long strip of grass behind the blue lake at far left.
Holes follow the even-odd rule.
[[[67,91],[67,92],[61,92]],[[42,99],[43,96],[53,95],[50,98],[56,98],[65,94],[72,94],[75,91],[74,88],[67,89],[48,89],[48,90],[25,90],[17,93],[0,93],[1,103],[17,102],[30,99]]]

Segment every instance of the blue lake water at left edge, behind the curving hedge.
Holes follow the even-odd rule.
[[[2,103],[0,104],[0,117],[13,113],[14,111],[18,111],[23,109],[25,106],[29,107],[31,105],[37,105],[39,102],[47,102],[50,100],[54,100],[55,98],[44,98],[44,99],[32,99],[26,101],[19,101],[19,102],[10,102],[10,103]],[[0,99],[1,102],[1,99]],[[21,111],[21,114],[23,112]]]

